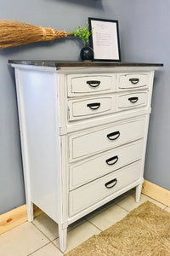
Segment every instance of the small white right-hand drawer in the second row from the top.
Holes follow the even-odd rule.
[[[116,111],[127,108],[144,107],[148,102],[148,91],[125,93],[116,96]]]

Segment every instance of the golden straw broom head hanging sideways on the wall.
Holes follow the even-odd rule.
[[[65,32],[65,30],[59,31],[51,27],[34,26],[20,21],[0,20],[0,49],[35,42],[53,41],[68,36],[72,36],[72,34]]]

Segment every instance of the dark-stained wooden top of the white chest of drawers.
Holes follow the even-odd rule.
[[[9,64],[22,64],[44,67],[162,67],[161,63],[129,63],[112,61],[32,61],[9,60]]]

